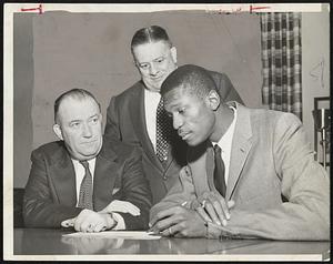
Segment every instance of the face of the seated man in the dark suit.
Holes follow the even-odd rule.
[[[64,99],[53,130],[64,141],[73,159],[93,159],[102,148],[102,115],[91,98]]]

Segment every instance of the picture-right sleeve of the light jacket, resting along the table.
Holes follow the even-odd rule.
[[[260,212],[231,211],[225,229],[209,226],[212,237],[330,240],[327,173],[314,161],[304,129],[295,115],[284,114],[274,131],[274,165],[286,202]]]

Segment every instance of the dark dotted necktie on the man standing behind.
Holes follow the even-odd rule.
[[[161,98],[157,110],[157,155],[162,163],[168,159],[172,131],[172,123],[170,121],[163,108],[163,98]]]

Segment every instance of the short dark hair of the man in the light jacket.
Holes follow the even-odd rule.
[[[218,91],[210,73],[204,68],[193,64],[181,65],[171,72],[162,83],[160,93],[163,97],[175,88],[199,98],[204,98],[211,90]]]

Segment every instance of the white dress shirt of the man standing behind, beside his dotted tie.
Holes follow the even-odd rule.
[[[161,93],[144,89],[144,112],[148,136],[157,152],[157,111]]]

